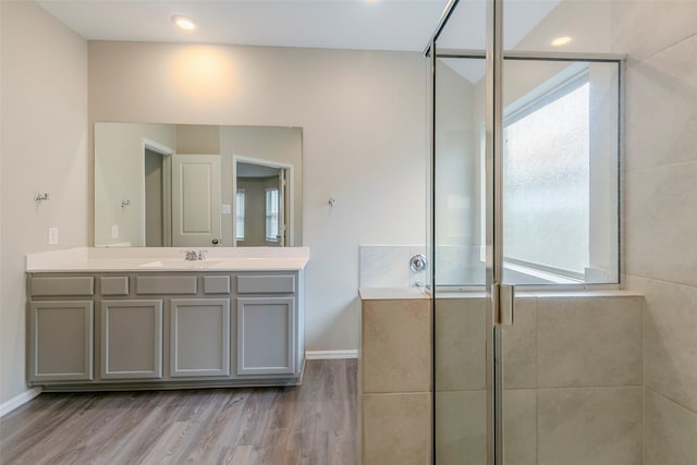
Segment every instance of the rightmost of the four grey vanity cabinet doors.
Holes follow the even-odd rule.
[[[237,298],[237,375],[293,375],[295,297]]]

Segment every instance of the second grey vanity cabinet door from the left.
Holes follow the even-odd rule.
[[[162,378],[162,301],[102,301],[101,379]]]

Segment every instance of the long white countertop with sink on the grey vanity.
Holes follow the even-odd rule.
[[[196,261],[184,259],[184,248],[78,247],[28,254],[26,271],[290,271],[304,269],[309,260],[308,247],[215,247]]]

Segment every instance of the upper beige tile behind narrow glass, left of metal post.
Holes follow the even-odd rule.
[[[484,298],[437,298],[435,320],[436,391],[484,389]]]

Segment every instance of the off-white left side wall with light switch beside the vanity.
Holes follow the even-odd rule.
[[[2,406],[26,392],[24,255],[86,245],[89,193],[87,42],[34,3],[0,5]],[[35,204],[37,193],[50,199]]]

